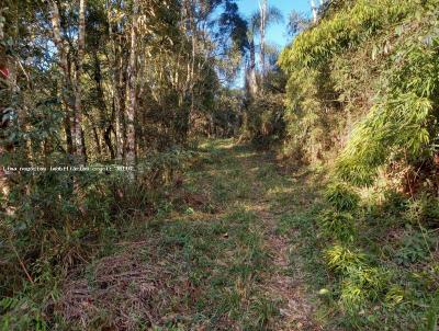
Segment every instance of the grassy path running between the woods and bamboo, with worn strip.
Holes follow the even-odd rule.
[[[268,153],[211,141],[154,219],[64,284],[63,320],[100,330],[322,330],[294,224],[307,178]]]

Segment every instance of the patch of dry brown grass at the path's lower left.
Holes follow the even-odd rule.
[[[146,262],[139,254],[145,247],[154,248],[154,240],[132,242],[121,253],[95,261],[89,277],[78,270],[65,282],[55,309],[83,330],[92,328],[99,316],[105,330],[138,330],[139,324],[150,327],[172,319],[166,309],[185,295],[189,282],[171,282],[166,261]]]

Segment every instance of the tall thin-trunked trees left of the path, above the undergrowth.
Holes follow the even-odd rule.
[[[233,1],[11,1],[2,20],[2,107],[21,124],[10,142],[82,162],[133,162],[207,132],[205,110],[227,79],[215,70],[237,70],[226,59],[243,45],[230,34],[246,26]],[[31,116],[46,125],[24,129]]]

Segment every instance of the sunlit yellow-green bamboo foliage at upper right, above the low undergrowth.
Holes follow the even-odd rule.
[[[315,160],[347,145],[338,174],[359,185],[372,184],[381,166],[431,158],[436,25],[436,0],[356,1],[300,34],[280,58],[290,77],[285,152]]]

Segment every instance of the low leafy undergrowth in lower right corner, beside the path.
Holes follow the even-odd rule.
[[[337,191],[329,185],[312,210],[281,222],[299,230],[308,284],[320,297],[317,317],[328,330],[436,330],[439,236],[414,224],[418,201],[371,203],[345,184]]]

